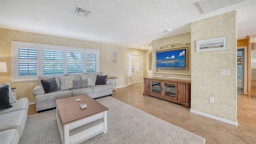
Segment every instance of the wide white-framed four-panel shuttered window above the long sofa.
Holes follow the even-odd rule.
[[[99,69],[99,50],[12,41],[12,82]]]

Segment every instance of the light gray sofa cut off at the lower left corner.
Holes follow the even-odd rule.
[[[13,93],[16,98],[16,93]],[[18,99],[12,107],[0,110],[0,143],[18,144],[28,117],[28,98]]]

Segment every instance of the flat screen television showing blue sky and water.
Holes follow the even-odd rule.
[[[186,70],[186,49],[156,52],[157,70]]]

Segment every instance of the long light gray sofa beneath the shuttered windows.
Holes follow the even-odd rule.
[[[94,84],[96,82],[97,75],[102,76],[102,72],[83,73],[83,74],[92,74],[94,78]],[[35,96],[37,112],[56,107],[55,99],[61,99],[65,97],[71,97],[71,96],[83,95],[83,94],[87,94],[92,98],[98,98],[105,95],[112,95],[113,93],[113,90],[112,90],[113,86],[111,84],[111,80],[107,80],[106,84],[102,84],[102,85],[95,85],[95,86],[89,86],[86,88],[78,88],[78,89],[71,88],[68,90],[61,90],[60,77],[71,76],[71,75],[74,75],[74,74],[65,74],[65,75],[56,75],[56,76],[40,76],[38,78],[38,85],[32,91],[32,94]],[[44,88],[41,84],[41,80],[48,80],[51,78],[55,78],[60,90],[50,92],[50,93],[45,93]],[[80,74],[76,74],[76,80],[81,80]]]

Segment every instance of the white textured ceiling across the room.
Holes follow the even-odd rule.
[[[256,0],[203,14],[198,0],[0,0],[0,27],[134,49],[190,32],[190,23],[238,10],[237,39],[256,34]],[[91,10],[73,14],[75,6]],[[172,31],[167,32],[167,29]],[[144,47],[144,48],[141,48]]]

